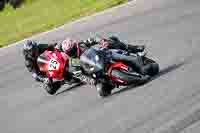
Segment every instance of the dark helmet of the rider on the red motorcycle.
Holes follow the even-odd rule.
[[[37,52],[37,43],[32,40],[27,40],[23,47],[24,56],[33,57]]]

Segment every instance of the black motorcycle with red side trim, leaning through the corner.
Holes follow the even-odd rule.
[[[148,72],[144,75],[122,59],[115,58],[115,52],[127,57],[138,57],[143,66],[149,66]],[[146,57],[144,52],[129,53],[124,50],[100,49],[91,47],[80,57],[80,69],[82,80],[88,77],[95,85],[98,94],[105,97],[111,94],[115,87],[128,86],[131,84],[145,83],[150,77],[158,74],[159,65],[154,60]]]

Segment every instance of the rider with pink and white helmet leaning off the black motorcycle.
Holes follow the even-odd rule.
[[[106,49],[118,49],[118,50],[125,50],[130,53],[137,53],[137,52],[144,52],[145,46],[144,45],[130,45],[125,44],[121,42],[117,37],[111,36],[103,39],[100,39],[97,41],[95,38],[89,38],[85,41],[77,42],[76,40],[72,40],[70,38],[63,41],[63,43],[58,44],[56,46],[57,49],[60,51],[64,51],[66,54],[68,54],[70,57],[73,58],[79,58],[80,55],[88,48],[99,45],[102,48]],[[147,74],[147,71],[149,70],[150,66],[143,66],[141,64],[139,57],[133,57],[133,56],[127,56],[127,55],[121,55],[114,52],[114,55],[116,59],[123,59],[133,64],[133,66],[136,68],[136,70],[145,75]]]

